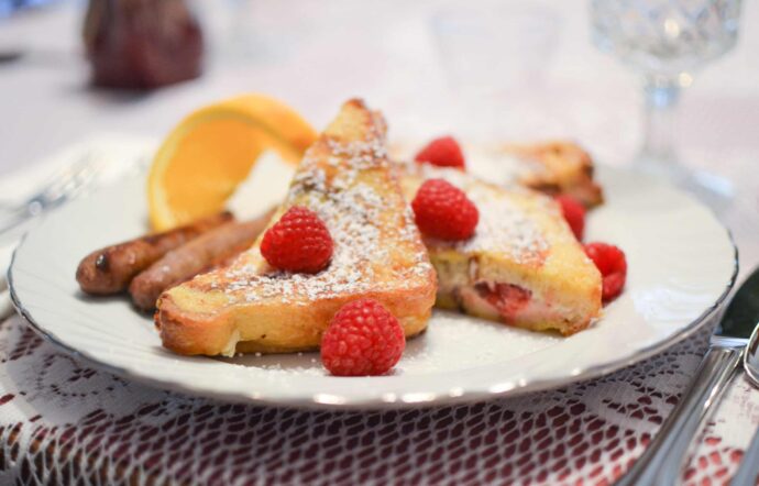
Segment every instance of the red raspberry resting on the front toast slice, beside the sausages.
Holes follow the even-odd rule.
[[[316,274],[329,263],[333,246],[332,236],[317,213],[294,206],[266,230],[261,254],[275,268]]]

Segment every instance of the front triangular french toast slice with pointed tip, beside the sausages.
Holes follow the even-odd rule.
[[[296,205],[317,212],[334,241],[326,269],[277,272],[262,257],[260,238],[229,267],[161,296],[155,321],[164,346],[206,355],[310,350],[341,306],[364,297],[382,302],[407,336],[425,330],[436,275],[387,159],[385,130],[362,101],[343,104],[273,217]]]

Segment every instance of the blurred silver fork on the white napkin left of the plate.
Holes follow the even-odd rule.
[[[102,158],[88,153],[81,161],[55,173],[26,200],[13,206],[0,206],[0,234],[77,197],[103,166]]]

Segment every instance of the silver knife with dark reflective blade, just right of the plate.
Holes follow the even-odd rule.
[[[744,281],[717,327],[708,352],[691,385],[644,454],[618,485],[674,485],[680,483],[688,449],[719,400],[736,368],[754,328],[759,322],[759,268]]]

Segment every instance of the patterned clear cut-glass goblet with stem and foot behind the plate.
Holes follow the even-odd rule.
[[[680,164],[675,110],[696,69],[735,46],[739,16],[740,0],[591,1],[594,43],[642,75],[646,122],[638,166],[706,197],[729,197],[730,185]]]

